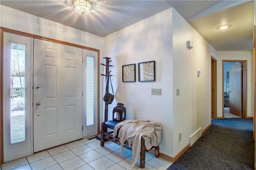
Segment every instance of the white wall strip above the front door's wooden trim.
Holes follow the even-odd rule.
[[[1,27],[102,49],[102,37],[1,5]],[[22,18],[22,19],[21,19]]]

